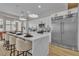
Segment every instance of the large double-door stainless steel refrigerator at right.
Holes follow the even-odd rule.
[[[52,20],[52,44],[58,46],[77,50],[77,25],[78,14],[74,13],[73,16],[65,17],[59,20]]]

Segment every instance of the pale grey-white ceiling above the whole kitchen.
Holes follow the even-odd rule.
[[[39,5],[41,8],[38,8]],[[66,9],[66,3],[0,3],[0,11],[16,16],[20,16],[21,11],[24,11],[25,17],[28,13],[33,13],[42,18]]]

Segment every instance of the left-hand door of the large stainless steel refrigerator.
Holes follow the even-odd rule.
[[[52,28],[52,42],[61,43],[61,22],[54,22]]]

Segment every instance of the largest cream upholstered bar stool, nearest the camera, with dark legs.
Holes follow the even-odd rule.
[[[25,40],[20,39],[20,38],[16,39],[17,56],[19,56],[21,54],[23,54],[23,56],[25,56],[25,55],[27,56],[27,53],[31,54],[29,52],[31,49],[32,49],[32,42],[31,41],[25,41]],[[19,53],[19,52],[22,52],[22,53]]]

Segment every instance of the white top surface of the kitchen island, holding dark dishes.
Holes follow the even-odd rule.
[[[24,39],[24,40],[34,41],[34,40],[39,39],[39,38],[41,38],[41,37],[48,36],[50,33],[45,32],[45,33],[43,33],[43,34],[38,34],[38,33],[36,33],[36,32],[30,32],[30,34],[33,35],[33,37],[24,37],[25,34],[24,34],[24,35],[16,35],[16,34],[12,34],[12,33],[8,33],[8,34],[9,34],[9,35],[13,35],[13,36],[15,36],[15,37],[17,37],[17,38]]]

